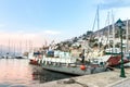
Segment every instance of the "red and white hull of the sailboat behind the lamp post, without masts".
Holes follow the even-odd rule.
[[[110,51],[110,52],[107,52],[107,53],[105,52],[105,54],[103,54],[103,55],[100,54],[100,53],[96,53],[96,57],[94,55],[90,59],[95,60],[99,64],[100,63],[106,63],[107,66],[118,66],[118,65],[121,64],[120,52],[112,52]],[[125,54],[122,57],[122,60],[123,60],[123,64],[130,62],[129,57],[126,57]]]

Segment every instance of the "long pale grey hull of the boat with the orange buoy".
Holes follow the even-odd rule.
[[[80,65],[78,66],[67,66],[67,65],[50,65],[50,64],[41,64],[43,70],[72,74],[72,75],[89,75],[105,72],[106,67],[99,66],[99,67],[91,67],[86,65],[86,70],[81,70]]]

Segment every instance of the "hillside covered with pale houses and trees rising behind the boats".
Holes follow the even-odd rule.
[[[127,21],[123,21],[123,23],[127,25]],[[128,26],[123,27],[122,30],[122,47],[123,52],[129,52],[130,47],[129,40],[130,40],[130,30],[127,30],[127,27],[130,27],[130,22],[128,22]],[[37,50],[42,50],[44,48],[50,48],[53,50],[61,50],[64,52],[70,52],[73,55],[79,55],[79,53],[87,49],[88,51],[98,51],[102,50],[105,51],[106,49],[115,48],[120,50],[120,29],[114,24],[115,28],[113,30],[113,25],[105,26],[104,28],[92,32],[89,30],[78,37],[74,37],[64,41],[61,41],[58,44],[54,44],[52,41],[49,46],[43,46]],[[128,32],[128,33],[127,33]]]

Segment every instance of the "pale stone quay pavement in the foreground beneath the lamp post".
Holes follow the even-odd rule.
[[[126,78],[119,77],[120,70],[92,75],[77,76],[31,87],[130,87],[130,69],[126,69]]]

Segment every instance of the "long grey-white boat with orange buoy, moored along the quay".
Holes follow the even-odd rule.
[[[105,65],[100,65],[94,61],[80,63],[80,61],[77,61],[78,58],[74,58],[67,52],[58,52],[56,55],[58,57],[44,54],[39,61],[40,65],[44,70],[73,75],[88,75],[106,71]]]

